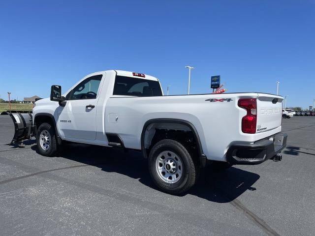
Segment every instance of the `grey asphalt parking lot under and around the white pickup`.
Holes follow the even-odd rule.
[[[315,117],[283,119],[283,160],[203,173],[183,196],[154,187],[141,152],[34,140],[0,116],[0,235],[282,235],[315,232]]]

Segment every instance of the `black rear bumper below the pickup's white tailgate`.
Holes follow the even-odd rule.
[[[285,148],[287,134],[278,133],[272,137],[274,141],[263,139],[253,144],[233,142],[226,152],[226,161],[233,165],[257,165],[273,158]]]

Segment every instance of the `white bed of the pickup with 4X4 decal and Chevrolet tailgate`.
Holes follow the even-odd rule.
[[[246,110],[242,98],[257,99],[257,131],[241,130]],[[277,100],[275,103],[273,101]],[[255,141],[281,131],[283,97],[257,92],[191,94],[152,97],[112,96],[106,103],[106,133],[118,134],[126,148],[141,149],[142,127],[150,119],[186,120],[194,125],[207,158],[226,160],[232,142]]]

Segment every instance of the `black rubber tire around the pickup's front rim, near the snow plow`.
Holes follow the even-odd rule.
[[[50,145],[49,145],[49,148],[47,149],[43,148],[42,145],[40,144],[41,142],[40,134],[42,131],[45,131],[45,130],[50,135]],[[41,125],[39,125],[37,136],[36,136],[36,143],[37,143],[37,149],[38,149],[39,154],[43,156],[55,156],[58,150],[58,143],[56,140],[56,132],[55,132],[54,127],[52,127],[48,123],[42,123]]]

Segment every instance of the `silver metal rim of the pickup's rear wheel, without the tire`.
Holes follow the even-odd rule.
[[[158,176],[166,183],[176,183],[183,173],[181,158],[172,151],[162,151],[156,161]]]

